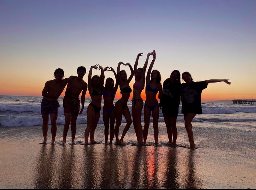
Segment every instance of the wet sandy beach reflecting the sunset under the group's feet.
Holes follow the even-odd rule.
[[[229,136],[233,128],[199,125],[194,130],[197,149],[190,150],[182,123],[176,147],[167,145],[165,135],[153,146],[152,130],[149,146],[135,146],[133,126],[125,137],[128,145],[104,145],[103,124],[95,133],[99,144],[82,146],[84,128],[77,126],[77,145],[57,146],[39,144],[41,126],[1,127],[0,188],[256,188],[254,130]],[[163,134],[165,126],[159,129]],[[50,126],[48,142],[49,132]],[[57,142],[62,133],[58,126]]]

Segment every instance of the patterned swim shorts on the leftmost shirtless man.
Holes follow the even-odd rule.
[[[43,98],[41,102],[41,114],[58,114],[59,102]]]

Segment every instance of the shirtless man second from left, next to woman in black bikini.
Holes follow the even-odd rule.
[[[67,89],[65,92],[65,96],[63,98],[63,109],[65,115],[65,124],[63,129],[63,140],[62,144],[66,144],[67,132],[69,131],[69,124],[71,122],[71,145],[75,145],[75,132],[77,131],[77,117],[78,114],[82,114],[83,107],[85,105],[85,94],[87,91],[87,83],[83,81],[83,76],[85,76],[86,69],[83,66],[77,68],[78,77],[73,77],[67,83]],[[82,91],[81,95],[81,103],[82,107],[80,108],[80,100],[79,95]]]

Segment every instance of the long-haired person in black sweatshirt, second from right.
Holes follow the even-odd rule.
[[[177,127],[176,121],[181,102],[181,74],[178,70],[171,72],[170,78],[163,82],[162,98],[160,107],[165,120],[166,130],[170,145],[176,145]]]

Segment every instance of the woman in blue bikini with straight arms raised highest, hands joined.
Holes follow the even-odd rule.
[[[152,53],[153,60],[149,66],[146,77],[146,100],[144,106],[144,129],[143,129],[143,144],[146,144],[147,134],[149,130],[150,116],[152,112],[153,128],[154,128],[154,140],[155,145],[158,145],[158,118],[159,118],[159,105],[157,100],[162,96],[161,74],[158,70],[152,70],[155,62],[155,51]],[[148,54],[149,57],[149,54]],[[151,73],[151,74],[150,74]],[[150,79],[151,77],[151,79]]]

